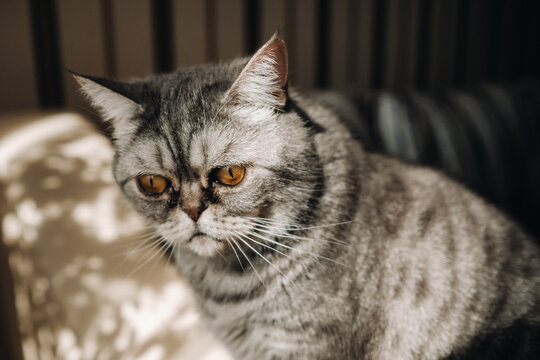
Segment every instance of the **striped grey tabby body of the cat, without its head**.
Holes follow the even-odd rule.
[[[284,243],[344,266],[277,247],[294,259],[264,256],[283,274],[251,259],[264,289],[249,264],[239,272],[234,255],[201,262],[180,252],[203,317],[233,354],[436,359],[527,318],[539,301],[531,277],[539,253],[514,224],[439,173],[364,154],[332,114],[305,108],[325,129],[315,144],[328,174],[319,216],[305,225],[353,221],[300,234],[347,246]]]

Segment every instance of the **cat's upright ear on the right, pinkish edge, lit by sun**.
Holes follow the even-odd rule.
[[[280,110],[287,102],[287,47],[274,34],[248,61],[227,93],[227,100]]]

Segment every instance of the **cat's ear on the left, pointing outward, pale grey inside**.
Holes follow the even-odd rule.
[[[143,112],[140,104],[142,89],[139,85],[107,80],[95,76],[72,73],[81,92],[100,112],[114,130],[131,127],[129,122]]]

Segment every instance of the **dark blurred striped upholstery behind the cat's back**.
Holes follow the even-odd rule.
[[[540,83],[373,100],[375,150],[442,169],[540,235]]]

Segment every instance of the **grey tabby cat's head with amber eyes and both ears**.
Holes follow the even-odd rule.
[[[110,122],[114,176],[169,244],[200,256],[310,215],[322,177],[313,131],[272,37],[249,60],[121,83],[76,75]]]

